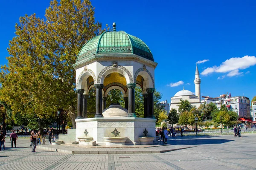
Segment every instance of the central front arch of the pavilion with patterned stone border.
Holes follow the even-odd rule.
[[[97,83],[103,84],[105,77],[108,74],[111,74],[113,72],[122,74],[126,79],[126,83],[133,83],[133,78],[130,71],[122,65],[117,65],[117,67],[113,67],[112,65],[109,65],[103,68],[102,71],[99,73],[99,76],[97,78]]]

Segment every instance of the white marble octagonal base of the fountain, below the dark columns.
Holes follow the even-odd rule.
[[[76,136],[85,137],[85,129],[88,132],[87,137],[92,137],[98,145],[107,145],[104,138],[127,137],[125,145],[140,144],[139,137],[145,136],[143,133],[146,129],[147,136],[155,136],[156,119],[137,118],[137,117],[98,117],[87,119],[76,119]],[[114,130],[119,134],[114,136]],[[85,132],[85,133],[84,133]],[[76,141],[79,139],[76,138]],[[153,143],[156,143],[154,138]]]

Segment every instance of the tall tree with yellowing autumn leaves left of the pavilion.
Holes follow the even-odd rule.
[[[52,0],[45,18],[25,15],[16,24],[0,74],[4,99],[14,114],[21,110],[48,119],[59,108],[67,110],[76,128],[72,64],[84,43],[101,32],[101,23],[89,0]]]

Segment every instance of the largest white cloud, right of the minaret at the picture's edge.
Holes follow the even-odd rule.
[[[245,68],[249,68],[250,66],[256,65],[256,57],[255,56],[244,56],[244,57],[235,57],[227,59],[222,62],[220,66],[213,66],[206,68],[201,74],[207,75],[213,72],[216,73],[227,73],[227,76],[237,76],[242,73],[239,72],[239,69],[243,70]]]

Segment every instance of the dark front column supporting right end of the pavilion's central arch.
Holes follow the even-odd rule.
[[[136,117],[135,114],[135,83],[130,83],[126,85],[128,88],[128,116]]]

